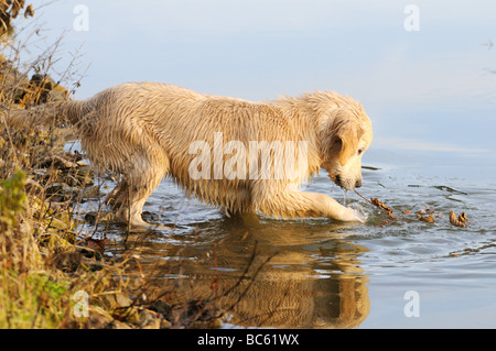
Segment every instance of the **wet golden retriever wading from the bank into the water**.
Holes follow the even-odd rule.
[[[335,92],[252,102],[129,83],[7,113],[11,125],[53,121],[76,127],[87,156],[122,175],[106,200],[132,228],[150,226],[141,211],[166,175],[227,213],[359,220],[330,196],[298,189],[320,168],[344,189],[362,185],[371,122],[362,105]]]

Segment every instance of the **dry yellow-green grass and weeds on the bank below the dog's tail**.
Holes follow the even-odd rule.
[[[0,133],[0,328],[104,328],[121,308],[108,297],[130,296],[128,260],[106,262],[78,233],[73,209],[91,175],[63,141],[55,130]],[[88,317],[75,312],[77,292]]]

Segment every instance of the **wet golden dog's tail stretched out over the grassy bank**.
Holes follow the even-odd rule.
[[[0,112],[7,125],[13,128],[74,125],[89,112],[86,100],[65,100],[40,105],[30,109],[8,109]]]

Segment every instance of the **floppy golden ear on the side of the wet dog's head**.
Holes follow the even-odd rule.
[[[356,153],[363,134],[358,123],[352,119],[337,118],[333,123],[332,138],[334,150],[339,150],[338,160],[344,166]]]

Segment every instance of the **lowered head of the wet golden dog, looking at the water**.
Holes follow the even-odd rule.
[[[373,141],[371,122],[362,105],[339,97],[321,117],[321,167],[344,189],[362,186],[362,156]]]

